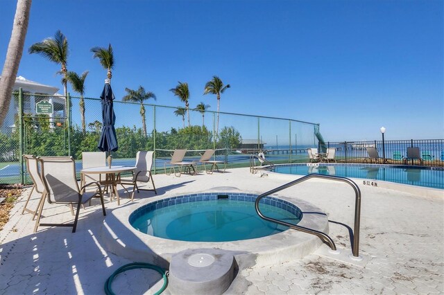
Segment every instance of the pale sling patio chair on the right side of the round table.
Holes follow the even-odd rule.
[[[155,190],[153,175],[151,175],[151,168],[153,167],[153,155],[154,152],[144,152],[139,151],[136,154],[136,169],[133,173],[133,177],[130,182],[125,182],[125,179],[121,180],[120,184],[131,184],[133,185],[133,193],[131,194],[131,201],[134,199],[134,192],[137,190],[151,190],[157,195],[157,190]],[[148,184],[151,180],[151,184],[153,184],[153,188],[139,188],[137,186],[137,182],[144,182]]]

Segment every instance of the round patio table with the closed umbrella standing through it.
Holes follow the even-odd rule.
[[[110,201],[112,201],[113,195],[117,197],[117,205],[120,205],[119,191],[117,190],[117,184],[120,184],[120,174],[123,172],[133,172],[135,166],[103,166],[103,167],[92,167],[80,170],[80,180],[82,184],[85,182],[85,175],[87,174],[105,174],[105,181],[101,181],[101,184],[105,186],[111,186]],[[122,186],[124,190],[126,188]],[[128,190],[126,190],[128,192]]]

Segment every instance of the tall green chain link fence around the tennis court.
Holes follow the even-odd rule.
[[[12,111],[0,132],[1,183],[27,181],[22,154],[71,155],[80,170],[82,152],[98,151],[103,125],[99,98],[68,96],[65,100],[18,92],[13,98]],[[50,102],[53,109],[36,114],[42,101]],[[214,149],[216,160],[234,168],[248,166],[248,153],[259,150],[276,163],[307,161],[305,149],[318,145],[318,125],[298,120],[119,100],[114,100],[114,113],[119,150],[112,152],[113,163],[134,165],[137,151],[155,150],[155,172],[163,172],[176,149],[186,149],[189,161]]]

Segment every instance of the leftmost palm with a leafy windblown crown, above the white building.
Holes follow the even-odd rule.
[[[68,39],[60,30],[53,38],[46,38],[37,42],[28,49],[29,53],[37,53],[46,57],[51,62],[56,62],[62,67],[57,73],[62,74],[63,93],[67,97],[67,61],[68,61]]]

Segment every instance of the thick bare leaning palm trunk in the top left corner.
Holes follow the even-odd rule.
[[[15,84],[17,71],[19,71],[25,44],[26,31],[28,30],[29,12],[31,11],[31,0],[18,0],[15,9],[14,24],[9,39],[8,52],[5,64],[1,71],[0,79],[0,127],[5,121],[11,102],[12,87]]]

